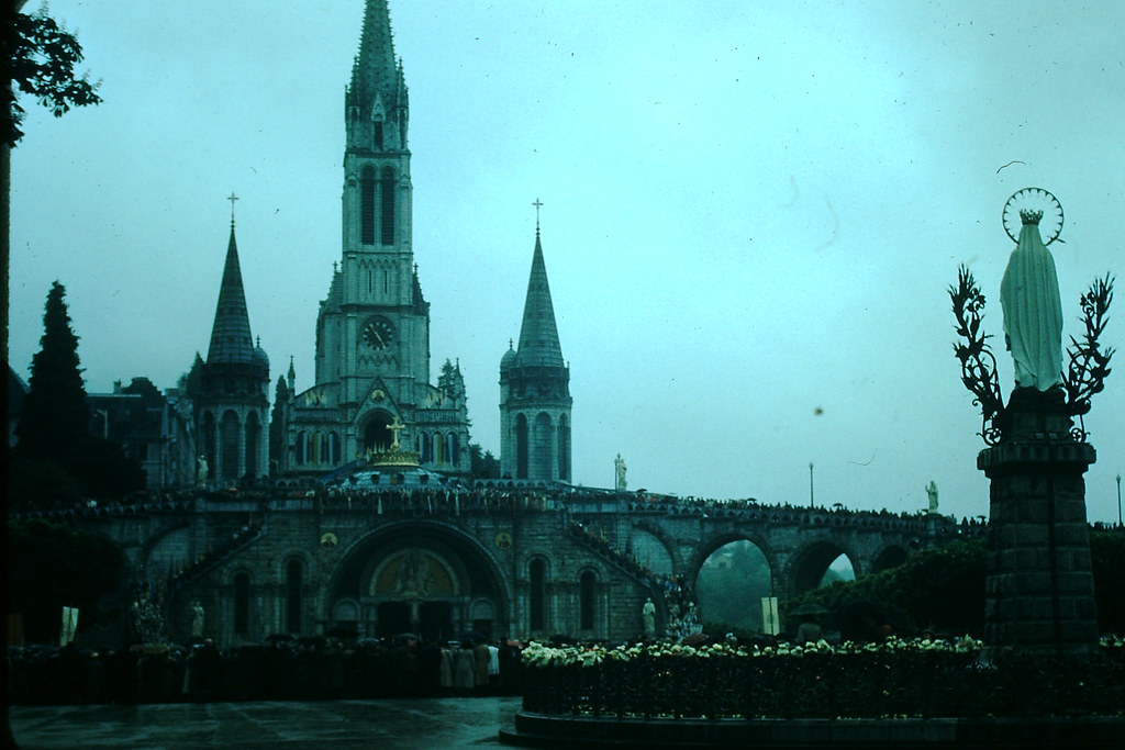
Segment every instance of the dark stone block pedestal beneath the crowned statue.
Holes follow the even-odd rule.
[[[976,458],[991,480],[987,652],[1084,657],[1097,648],[1082,479],[1096,454],[1071,426],[1061,389],[1017,388],[1004,437]]]

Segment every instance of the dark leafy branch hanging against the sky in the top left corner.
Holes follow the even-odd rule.
[[[74,75],[74,66],[82,62],[78,37],[47,16],[45,7],[26,15],[6,3],[0,12],[6,16],[3,58],[11,81],[11,85],[3,87],[7,101],[2,137],[6,145],[15,145],[24,136],[20,129],[24,108],[17,101],[17,91],[35,97],[55,117],[62,117],[71,107],[101,101],[97,83],[91,83],[87,74]]]

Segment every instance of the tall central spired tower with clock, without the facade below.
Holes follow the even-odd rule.
[[[316,381],[358,405],[381,378],[410,403],[430,377],[430,306],[412,247],[410,102],[386,0],[368,0],[344,94],[343,251],[317,319]]]

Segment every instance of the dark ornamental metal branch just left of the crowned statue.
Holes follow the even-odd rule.
[[[953,315],[957,320],[957,335],[964,343],[955,343],[953,353],[961,362],[961,382],[973,394],[973,404],[981,407],[983,427],[981,436],[990,445],[1000,437],[999,421],[1004,415],[1004,397],[996,370],[996,356],[988,346],[991,336],[981,333],[984,316],[984,295],[972,271],[957,269],[957,286],[950,287]]]

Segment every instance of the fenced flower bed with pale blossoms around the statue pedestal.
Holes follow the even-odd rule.
[[[1125,641],[1102,647],[1089,663],[1017,653],[984,663],[969,638],[804,648],[532,643],[523,708],[646,720],[1119,716]]]

